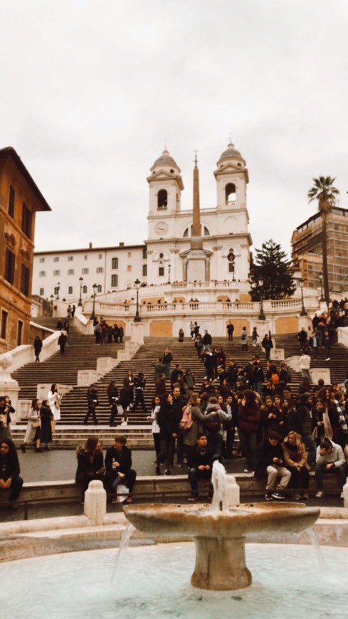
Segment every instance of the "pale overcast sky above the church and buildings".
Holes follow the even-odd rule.
[[[315,213],[312,177],[348,208],[347,0],[0,0],[1,147],[52,213],[36,250],[142,243],[149,168],[167,147],[192,206],[216,162],[246,159],[254,248]]]

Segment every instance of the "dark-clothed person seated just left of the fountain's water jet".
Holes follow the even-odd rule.
[[[191,485],[191,497],[189,501],[196,501],[199,498],[198,480],[199,477],[211,480],[214,458],[213,450],[208,448],[208,438],[206,434],[200,434],[196,445],[187,451],[187,466],[189,467],[189,482]],[[209,497],[213,496],[213,486],[209,485]]]

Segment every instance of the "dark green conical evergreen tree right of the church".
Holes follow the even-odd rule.
[[[258,280],[263,280],[262,295],[266,299],[284,299],[295,292],[292,275],[289,271],[290,260],[281,250],[280,245],[270,239],[262,244],[262,249],[255,250],[255,264],[251,274],[253,301],[260,300]]]

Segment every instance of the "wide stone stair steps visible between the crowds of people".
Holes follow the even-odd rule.
[[[50,320],[50,319],[46,319]],[[51,319],[52,320],[52,319]],[[53,319],[56,324],[56,319]],[[73,322],[73,321],[72,321]],[[52,323],[51,323],[52,324]],[[53,326],[55,326],[55,324]],[[48,325],[47,325],[48,326]],[[297,334],[278,335],[275,338],[277,348],[285,349],[285,359],[292,355],[300,354],[300,345],[297,341]],[[227,359],[235,359],[238,364],[245,365],[250,360],[253,354],[260,354],[265,367],[265,354],[263,349],[258,346],[253,348],[249,346],[248,351],[241,351],[240,338],[235,338],[234,341],[228,342],[226,337],[213,338],[213,345],[216,348],[222,348]],[[162,356],[166,346],[172,351],[173,361],[172,369],[176,363],[181,363],[183,370],[190,368],[196,379],[196,385],[200,386],[205,375],[205,368],[198,359],[194,343],[191,338],[185,338],[184,342],[178,342],[176,338],[168,337],[147,337],[144,339],[144,345],[141,346],[135,356],[130,361],[121,361],[115,366],[112,371],[109,371],[100,380],[96,381],[98,398],[100,406],[97,409],[97,418],[99,425],[89,426],[90,430],[97,431],[98,435],[104,436],[105,443],[110,442],[110,434],[115,433],[115,430],[108,428],[110,418],[110,409],[107,402],[107,385],[110,381],[117,381],[119,387],[122,386],[123,379],[129,369],[132,369],[134,374],[140,371],[144,372],[147,378],[147,388],[144,393],[147,408],[150,411],[152,398],[154,397],[154,368],[152,363],[155,363],[159,356]],[[58,351],[51,359],[48,359],[42,364],[28,364],[18,371],[14,372],[13,377],[19,381],[20,398],[32,399],[36,397],[36,386],[38,383],[61,383],[73,386],[72,391],[66,393],[62,400],[61,406],[61,421],[56,426],[55,441],[56,445],[68,447],[76,445],[83,440],[86,435],[87,428],[82,427],[83,418],[87,411],[87,387],[76,386],[77,375],[79,369],[95,369],[97,359],[101,356],[117,357],[117,351],[124,348],[124,344],[107,344],[106,346],[95,345],[93,336],[80,334],[74,327],[70,327],[69,346],[64,355]],[[280,362],[276,365],[279,367]],[[341,344],[332,346],[331,361],[325,361],[325,355],[322,350],[318,355],[317,361],[312,361],[312,368],[329,367],[331,378],[334,382],[344,382],[348,365],[348,351]],[[296,391],[301,376],[293,370],[290,370],[292,376],[293,391]],[[169,383],[167,383],[169,384]],[[120,416],[116,418],[116,423],[120,423]],[[91,423],[91,420],[90,420]],[[146,420],[143,411],[138,408],[135,413],[130,413],[128,425],[117,429],[125,431],[127,436],[132,435],[132,446],[138,448],[152,447],[152,436],[150,424]],[[13,434],[17,426],[12,426]],[[19,428],[19,433],[22,428]],[[21,434],[23,436],[23,432]],[[16,438],[16,437],[15,437]]]

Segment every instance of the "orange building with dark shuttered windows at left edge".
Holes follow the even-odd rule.
[[[29,343],[38,211],[51,208],[16,151],[0,149],[0,352]]]

